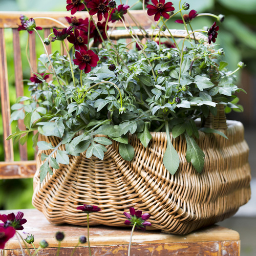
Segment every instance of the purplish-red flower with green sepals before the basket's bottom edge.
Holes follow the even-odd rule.
[[[127,212],[123,212],[124,216],[128,219],[124,222],[125,225],[134,225],[135,230],[140,228],[142,230],[146,230],[146,226],[151,226],[149,221],[146,221],[150,218],[150,214],[142,214],[141,210],[135,210],[133,207],[129,208],[130,214]]]

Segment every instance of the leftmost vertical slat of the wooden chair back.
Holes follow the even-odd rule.
[[[13,143],[12,140],[6,140],[6,138],[12,133],[10,120],[11,109],[9,99],[9,84],[7,73],[7,59],[5,48],[5,36],[4,29],[0,28],[0,87],[1,87],[1,106],[3,117],[3,129],[4,129],[4,151],[5,161],[13,161]]]

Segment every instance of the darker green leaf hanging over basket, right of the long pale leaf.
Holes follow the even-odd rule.
[[[186,133],[184,135],[187,142],[186,160],[193,164],[198,173],[201,173],[205,155],[193,137],[189,137]]]

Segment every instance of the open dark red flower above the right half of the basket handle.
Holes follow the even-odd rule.
[[[174,7],[172,6],[173,3],[169,2],[165,4],[165,0],[152,0],[153,5],[147,5],[146,8],[147,14],[152,16],[155,15],[154,19],[155,22],[157,22],[160,19],[160,16],[163,16],[164,18],[169,18],[170,15],[167,12],[174,11]]]

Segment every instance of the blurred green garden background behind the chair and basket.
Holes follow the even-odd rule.
[[[120,1],[116,1],[120,4]],[[122,1],[126,3],[126,1]],[[129,0],[128,4],[132,6],[137,0]],[[172,1],[174,7],[178,10],[178,1]],[[183,2],[182,2],[183,3]],[[190,9],[183,13],[188,13],[195,9],[198,13],[210,12],[216,15],[225,15],[223,23],[218,23],[220,30],[216,43],[220,44],[225,51],[225,60],[229,62],[229,70],[237,68],[237,63],[243,61],[246,63],[246,68],[239,72],[238,84],[241,88],[247,91],[247,95],[239,95],[240,103],[244,106],[244,113],[235,115],[230,113],[228,119],[242,121],[247,126],[255,124],[256,109],[253,105],[255,99],[256,85],[256,1],[255,0],[193,0],[188,1]],[[66,0],[0,0],[1,11],[66,11]],[[138,4],[136,9],[142,9],[142,4]],[[70,15],[67,12],[67,15]],[[179,19],[177,16],[175,19]],[[183,25],[174,23],[175,19],[169,22],[170,28],[183,29]],[[197,17],[193,20],[193,29],[202,29],[203,26],[210,27],[216,21],[212,17]],[[12,60],[12,37],[7,37],[6,46],[10,47],[8,54],[8,67],[13,66]],[[26,44],[25,39],[22,44]],[[38,52],[38,55],[42,53]],[[23,56],[24,63],[26,57]],[[30,71],[24,65],[25,78],[29,78]],[[11,104],[16,100],[14,89],[14,74],[9,73],[8,79],[10,83]],[[254,85],[254,86],[253,86]],[[26,86],[25,86],[26,87]],[[28,93],[28,92],[27,92]],[[0,116],[2,122],[2,117]],[[15,127],[15,124],[14,126]],[[3,138],[2,125],[0,126],[0,138]],[[1,140],[0,139],[0,140]],[[0,141],[0,161],[4,161],[3,141]],[[16,145],[16,150],[18,145]],[[30,158],[33,158],[32,145],[28,144]],[[18,160],[17,158],[15,160]],[[20,180],[0,180],[0,209],[22,209],[32,208],[31,198],[33,193],[32,179]]]

